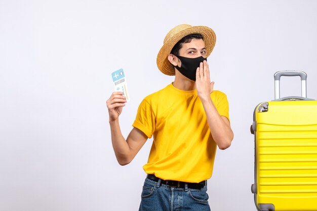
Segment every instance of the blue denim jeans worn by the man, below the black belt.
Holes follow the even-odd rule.
[[[168,187],[145,179],[139,211],[210,211],[207,186],[202,189]]]

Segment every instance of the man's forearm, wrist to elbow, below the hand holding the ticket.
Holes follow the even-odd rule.
[[[118,119],[109,121],[111,130],[111,142],[116,156],[116,160],[120,165],[127,165],[131,162],[130,147],[126,139],[123,137]]]

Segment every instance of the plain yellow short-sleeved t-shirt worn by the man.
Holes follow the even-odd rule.
[[[226,95],[213,91],[210,96],[220,116],[229,119]],[[147,174],[183,182],[211,177],[217,145],[196,90],[183,91],[169,84],[146,96],[133,127],[148,138],[153,135],[148,163],[143,166]]]

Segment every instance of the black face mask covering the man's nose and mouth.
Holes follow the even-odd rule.
[[[201,62],[207,61],[207,58],[197,57],[197,58],[187,58],[176,56],[181,61],[181,67],[174,66],[183,76],[186,78],[196,81],[196,70],[200,66]]]

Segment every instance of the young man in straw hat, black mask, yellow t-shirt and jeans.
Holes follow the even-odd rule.
[[[206,26],[179,25],[165,37],[157,67],[175,80],[143,99],[127,139],[118,117],[126,99],[107,100],[111,140],[120,165],[129,164],[153,136],[139,210],[210,210],[207,179],[216,147],[230,146],[233,133],[226,95],[214,91],[207,57],[216,36]]]

